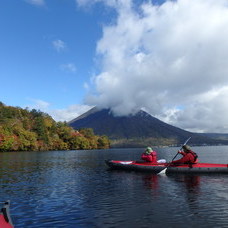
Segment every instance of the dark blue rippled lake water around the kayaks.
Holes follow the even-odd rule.
[[[172,160],[178,148],[155,148]],[[141,149],[0,153],[0,201],[15,227],[228,227],[228,175],[111,171]],[[228,163],[228,147],[193,147],[201,162]]]

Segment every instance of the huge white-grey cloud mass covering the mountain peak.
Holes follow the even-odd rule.
[[[181,128],[228,132],[227,1],[148,1],[137,11],[130,0],[111,5],[116,23],[104,26],[97,44],[102,64],[88,104],[117,115],[145,108]]]

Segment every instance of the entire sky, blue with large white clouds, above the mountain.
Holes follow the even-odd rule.
[[[227,26],[228,0],[1,0],[0,101],[228,133]]]

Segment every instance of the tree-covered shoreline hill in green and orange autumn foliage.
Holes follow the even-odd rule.
[[[0,151],[87,150],[110,147],[107,136],[93,129],[74,130],[36,109],[0,102]]]

